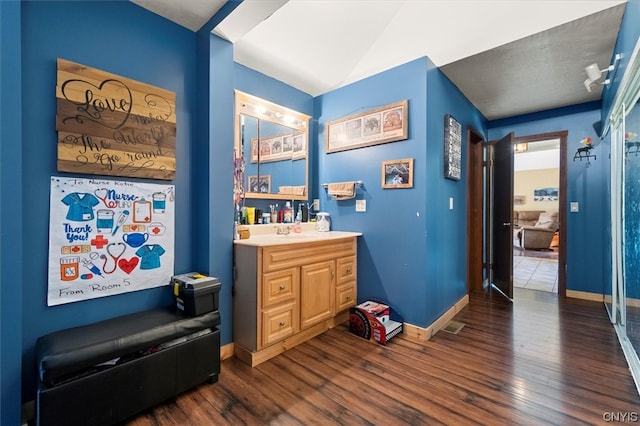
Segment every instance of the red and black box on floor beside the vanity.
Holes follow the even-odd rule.
[[[349,330],[382,345],[402,333],[402,324],[402,318],[384,303],[368,300],[349,309]]]

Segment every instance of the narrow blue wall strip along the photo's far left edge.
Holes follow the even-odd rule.
[[[20,422],[22,86],[20,2],[0,2],[0,424]]]

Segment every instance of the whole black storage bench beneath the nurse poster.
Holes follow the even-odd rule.
[[[37,423],[111,425],[220,372],[219,312],[173,307],[61,330],[36,342]]]

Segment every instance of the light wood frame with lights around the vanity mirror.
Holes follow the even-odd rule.
[[[234,90],[235,93],[235,114],[234,114],[234,149],[236,157],[242,155],[242,146],[240,141],[240,115],[248,115],[260,120],[266,120],[271,123],[280,124],[289,127],[295,131],[305,134],[306,152],[304,157],[300,157],[296,161],[304,159],[305,176],[304,176],[304,195],[278,194],[278,193],[262,193],[262,192],[245,192],[244,198],[252,199],[269,199],[269,200],[308,200],[309,199],[309,119],[311,116],[285,108],[273,102],[266,101],[248,93]],[[261,113],[259,111],[266,111]],[[287,120],[287,118],[289,118]],[[249,159],[245,158],[245,161]],[[291,160],[293,161],[293,160]],[[260,171],[260,161],[258,160],[258,175]],[[245,177],[243,177],[244,179]],[[243,182],[244,185],[244,182]]]

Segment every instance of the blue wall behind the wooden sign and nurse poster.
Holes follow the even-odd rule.
[[[163,286],[56,307],[46,305],[49,178],[64,175],[56,171],[56,58],[176,93],[175,271],[182,273],[193,267],[189,174],[196,51],[193,32],[130,2],[22,2],[21,42],[24,173],[18,181],[23,185],[24,203],[16,210],[25,226],[22,261],[16,264],[21,265],[24,279],[13,289],[23,295],[23,385],[25,399],[30,399],[35,384],[33,345],[39,336],[172,303],[170,288]],[[20,138],[17,141],[19,144]],[[8,302],[3,299],[3,312]]]

